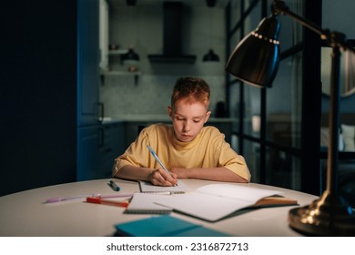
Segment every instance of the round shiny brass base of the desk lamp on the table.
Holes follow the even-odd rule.
[[[355,236],[355,211],[326,190],[309,206],[290,209],[289,226],[310,236]]]

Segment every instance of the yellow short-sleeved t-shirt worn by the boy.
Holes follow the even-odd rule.
[[[116,158],[113,176],[126,165],[160,168],[147,145],[155,150],[167,169],[225,167],[250,180],[245,159],[230,148],[218,128],[204,127],[192,141],[180,142],[174,138],[174,128],[167,124],[144,128],[126,152]]]

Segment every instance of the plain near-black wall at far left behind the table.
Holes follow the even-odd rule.
[[[76,1],[1,10],[0,196],[76,179]]]

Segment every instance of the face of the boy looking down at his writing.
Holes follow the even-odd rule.
[[[185,100],[177,101],[174,108],[167,107],[167,112],[173,122],[175,137],[182,142],[196,138],[211,115],[205,105],[199,102],[190,104]]]

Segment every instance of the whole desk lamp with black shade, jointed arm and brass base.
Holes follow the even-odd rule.
[[[311,236],[354,236],[355,211],[340,198],[337,189],[338,130],[340,123],[340,49],[350,50],[345,35],[322,29],[289,11],[283,1],[274,0],[272,15],[240,41],[229,56],[226,71],[257,87],[271,87],[279,67],[279,21],[277,15],[289,15],[302,26],[320,35],[332,48],[330,78],[330,146],[327,187],[320,199],[310,205],[289,210],[289,226]]]

